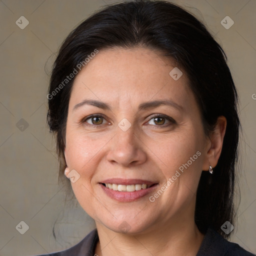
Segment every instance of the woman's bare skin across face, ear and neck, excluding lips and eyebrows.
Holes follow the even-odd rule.
[[[80,175],[72,183],[74,194],[96,222],[98,255],[195,255],[199,249],[203,234],[194,223],[196,188],[201,171],[217,164],[226,120],[220,116],[214,132],[204,134],[185,71],[180,68],[183,75],[174,80],[169,75],[174,67],[158,51],[113,48],[99,51],[74,80],[64,153],[67,171],[75,169]],[[73,110],[84,99],[103,101],[111,110],[89,104]],[[171,99],[181,109],[160,105],[138,110],[142,102],[163,99]],[[104,115],[101,124],[87,118],[91,114]],[[175,121],[161,118],[157,124],[155,115]],[[123,118],[131,124],[126,131],[118,126]],[[150,202],[149,196],[197,151],[200,156]],[[99,184],[107,178],[158,184],[148,195],[120,202]]]

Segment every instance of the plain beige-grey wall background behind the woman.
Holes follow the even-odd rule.
[[[54,140],[46,126],[49,76],[45,70],[50,70],[54,53],[68,32],[111,2],[0,0],[0,255],[64,249],[94,228],[74,200],[64,204],[64,189],[57,186]],[[256,0],[174,2],[195,13],[228,56],[243,125],[241,202],[231,240],[256,252]],[[29,21],[24,29],[15,24],[22,15]],[[226,15],[234,21],[229,29],[220,24]],[[21,120],[17,127],[21,118],[27,124]],[[21,220],[29,226],[24,234],[15,228]],[[56,239],[52,234],[54,223]]]

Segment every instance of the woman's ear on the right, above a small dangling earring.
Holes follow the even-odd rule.
[[[221,115],[217,118],[214,130],[209,135],[209,143],[207,143],[207,153],[203,163],[203,170],[209,170],[209,165],[211,165],[212,168],[217,165],[223,145],[225,131],[226,118]]]

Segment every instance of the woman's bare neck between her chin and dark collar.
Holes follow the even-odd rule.
[[[114,232],[102,224],[96,223],[99,243],[95,253],[98,256],[137,255],[140,256],[195,256],[203,239],[194,221],[171,221],[145,231],[142,234],[123,234]]]

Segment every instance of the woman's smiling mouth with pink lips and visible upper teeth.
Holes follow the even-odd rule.
[[[99,182],[103,191],[118,201],[133,201],[155,189],[157,182],[143,179],[106,179]]]

